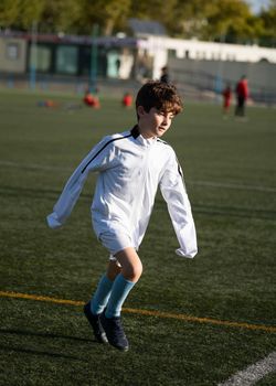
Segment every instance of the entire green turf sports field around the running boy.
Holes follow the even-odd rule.
[[[131,350],[120,353],[94,342],[82,312],[107,260],[91,227],[95,175],[66,226],[51,230],[45,216],[92,146],[135,115],[115,99],[100,110],[40,99],[0,92],[0,385],[217,385],[274,352],[275,110],[248,108],[241,122],[187,103],[176,118],[164,139],[184,171],[199,255],[174,255],[158,195],[123,313]],[[256,385],[276,385],[275,373]]]

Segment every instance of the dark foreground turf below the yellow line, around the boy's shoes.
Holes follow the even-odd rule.
[[[2,350],[12,357],[7,372],[12,375],[15,369],[19,384],[26,379],[35,384],[43,377],[44,384],[55,385],[212,385],[229,367],[240,368],[241,355],[246,356],[244,364],[251,364],[273,350],[265,333],[126,314],[131,352],[118,353],[92,341],[81,310],[33,302],[26,309],[17,300],[7,303],[10,317],[1,329]],[[20,321],[14,318],[18,313]],[[145,342],[145,336],[150,339]]]

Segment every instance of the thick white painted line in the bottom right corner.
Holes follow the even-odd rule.
[[[270,353],[264,360],[234,374],[226,382],[217,386],[252,386],[274,372],[276,372],[276,352]]]

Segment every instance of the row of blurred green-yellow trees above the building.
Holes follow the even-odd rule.
[[[159,21],[168,35],[275,45],[276,0],[253,15],[246,0],[0,0],[0,28],[102,35],[127,32],[129,18]]]

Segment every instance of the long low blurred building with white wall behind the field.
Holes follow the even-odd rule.
[[[245,74],[253,95],[276,96],[275,49],[171,39],[156,22],[129,22],[134,37],[0,32],[0,78],[35,71],[43,82],[87,84],[95,76],[144,82],[159,78],[168,65],[171,79],[185,90],[221,93],[225,83],[234,85]]]

